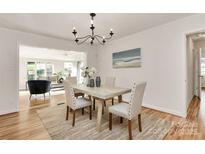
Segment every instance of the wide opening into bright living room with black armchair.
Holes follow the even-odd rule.
[[[82,81],[80,68],[86,63],[85,52],[20,45],[19,110],[47,107],[64,102],[64,86],[60,80],[72,76],[77,77],[79,82]],[[37,80],[34,81],[35,83],[39,80],[48,80],[51,82],[51,90],[45,95],[32,95],[30,98],[28,87],[30,80]]]

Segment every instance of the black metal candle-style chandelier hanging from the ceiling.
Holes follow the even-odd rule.
[[[94,25],[93,25],[93,20],[94,20],[94,17],[96,16],[95,13],[90,13],[90,16],[91,16],[91,21],[90,21],[90,29],[91,29],[91,34],[90,35],[86,35],[86,36],[83,36],[83,37],[78,37],[77,36],[77,31],[75,29],[75,27],[73,27],[73,35],[75,36],[75,42],[79,45],[79,44],[82,44],[84,42],[86,42],[87,40],[90,40],[90,44],[93,45],[94,43],[94,40],[97,40],[101,45],[104,45],[105,42],[109,39],[112,38],[113,36],[113,30],[110,29],[110,33],[109,33],[109,37],[105,37],[105,36],[100,36],[100,35],[97,35],[94,33]]]

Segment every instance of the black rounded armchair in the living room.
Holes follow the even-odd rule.
[[[45,93],[49,92],[51,89],[51,81],[48,80],[29,80],[28,81],[28,87],[30,91],[30,98],[33,94],[44,94],[44,100],[45,100]]]

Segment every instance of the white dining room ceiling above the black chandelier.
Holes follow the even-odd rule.
[[[165,24],[193,14],[189,13],[97,13],[95,32],[100,35],[114,30],[113,39]],[[78,36],[90,33],[88,13],[0,14],[0,27],[11,28],[66,40],[73,40],[72,28]]]

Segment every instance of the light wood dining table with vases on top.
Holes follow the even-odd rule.
[[[102,121],[102,110],[104,106],[105,100],[118,97],[118,102],[122,102],[122,95],[131,92],[130,88],[123,87],[109,87],[109,86],[101,86],[101,87],[88,87],[82,84],[73,84],[74,90],[87,94],[89,98],[97,98],[97,124],[96,129],[98,131],[101,130],[101,121]]]

